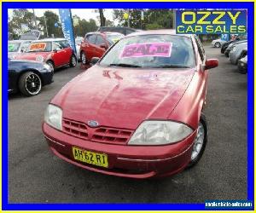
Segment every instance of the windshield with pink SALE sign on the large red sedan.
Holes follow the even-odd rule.
[[[189,37],[141,35],[119,40],[100,61],[102,66],[186,68],[195,66]]]

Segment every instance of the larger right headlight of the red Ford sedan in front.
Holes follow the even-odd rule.
[[[131,136],[129,145],[161,145],[181,141],[193,132],[189,126],[172,121],[144,121]]]

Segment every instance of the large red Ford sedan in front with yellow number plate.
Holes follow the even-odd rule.
[[[161,30],[119,40],[49,102],[43,130],[51,151],[84,169],[132,178],[195,165],[207,144],[202,111],[215,66],[194,35]]]

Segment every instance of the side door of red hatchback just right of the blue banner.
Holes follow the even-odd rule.
[[[95,56],[96,49],[96,34],[87,34],[84,37],[84,42],[81,44],[80,52],[84,51],[86,59],[90,60]]]

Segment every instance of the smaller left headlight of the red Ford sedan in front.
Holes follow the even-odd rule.
[[[44,112],[44,122],[54,127],[57,130],[62,130],[62,110],[60,107],[56,107],[49,104]]]

